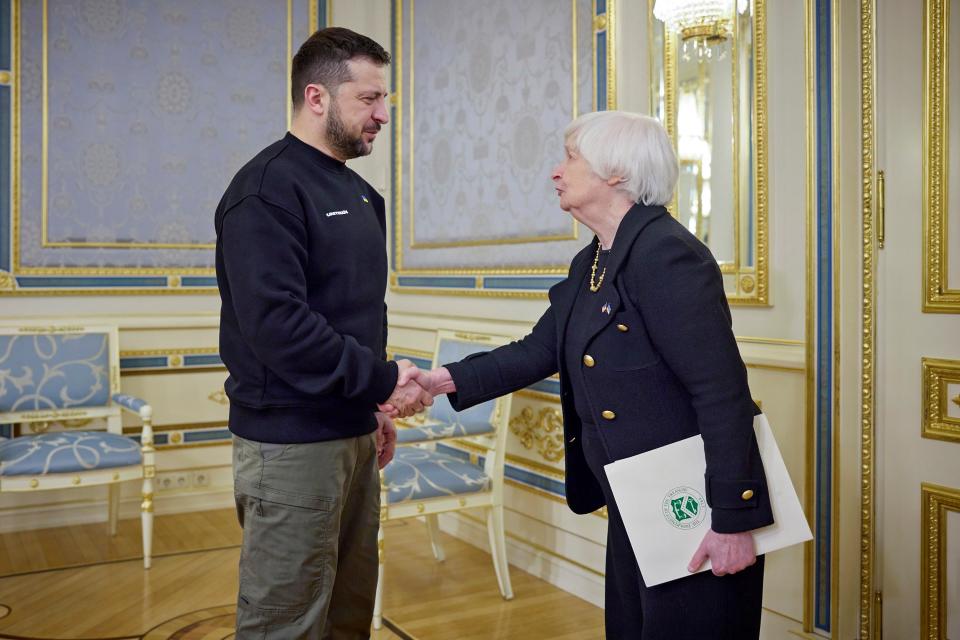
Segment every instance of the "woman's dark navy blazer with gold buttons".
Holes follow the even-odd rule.
[[[445,365],[457,410],[560,372],[566,498],[576,513],[606,500],[584,459],[564,339],[578,288],[585,287],[597,239],[550,289],[550,307],[522,340]],[[634,205],[617,230],[597,312],[578,354],[590,414],[619,460],[693,435],[703,436],[707,502],[714,531],[773,522],[753,432],[757,412],[731,328],[720,269],[709,249],[667,210]],[[579,331],[579,327],[577,330]]]

